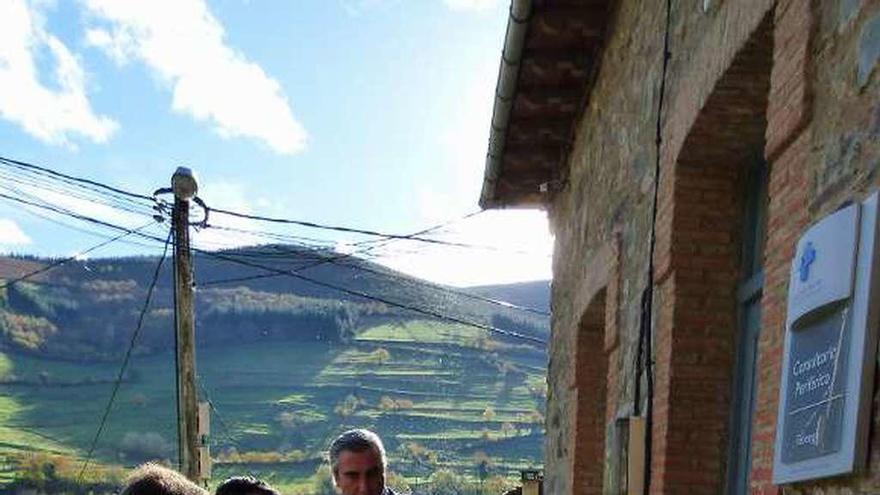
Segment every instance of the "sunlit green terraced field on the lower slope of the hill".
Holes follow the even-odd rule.
[[[209,332],[210,329],[199,329]],[[303,491],[329,440],[368,427],[411,484],[450,468],[513,475],[541,462],[542,352],[493,347],[481,331],[412,320],[346,344],[267,341],[197,351],[214,406],[214,477],[253,473]],[[121,358],[121,356],[120,356]],[[84,457],[118,362],[0,354],[0,458],[29,451]],[[174,357],[134,358],[96,450],[101,464],[176,457]],[[14,475],[0,463],[0,483]]]

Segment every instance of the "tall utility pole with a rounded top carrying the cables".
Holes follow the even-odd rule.
[[[177,351],[177,438],[180,472],[199,483],[198,391],[193,312],[192,253],[189,247],[189,205],[198,192],[190,169],[178,167],[171,176],[174,192],[174,326]]]

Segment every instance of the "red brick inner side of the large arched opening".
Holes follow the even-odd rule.
[[[741,197],[765,148],[772,52],[766,15],[661,171],[652,493],[724,492]]]

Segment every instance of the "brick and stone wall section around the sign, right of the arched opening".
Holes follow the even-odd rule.
[[[768,106],[766,154],[772,160],[765,257],[753,493],[772,484],[788,269],[796,239],[812,222],[880,186],[880,85],[865,46],[880,37],[880,2],[780,1]],[[878,26],[872,31],[871,26]],[[864,78],[865,61],[873,77]],[[860,74],[860,72],[862,72]],[[789,494],[880,492],[878,387],[868,466],[862,473],[785,487]]]

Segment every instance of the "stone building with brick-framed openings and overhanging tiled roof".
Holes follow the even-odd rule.
[[[773,484],[789,267],[880,186],[878,59],[876,0],[513,0],[481,204],[555,235],[546,493],[626,493],[631,417],[650,493],[880,493],[876,385],[865,469]]]

